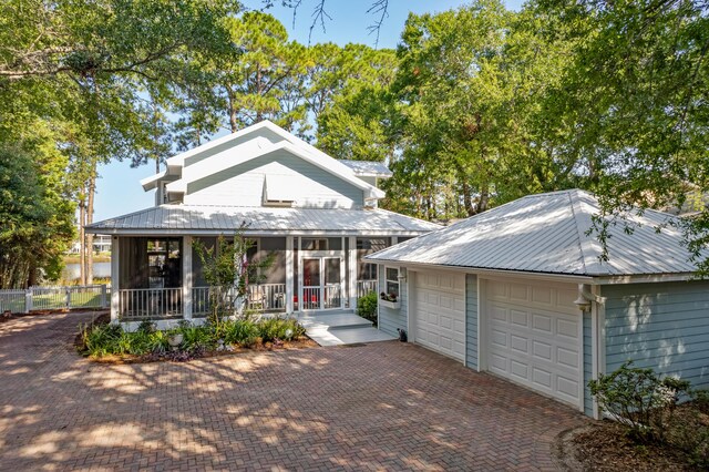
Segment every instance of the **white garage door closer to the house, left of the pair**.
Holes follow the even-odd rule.
[[[465,275],[415,274],[414,341],[454,359],[465,359]]]

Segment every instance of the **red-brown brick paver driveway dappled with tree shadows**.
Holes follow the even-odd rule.
[[[103,366],[90,314],[0,324],[0,470],[553,469],[585,420],[397,341]]]

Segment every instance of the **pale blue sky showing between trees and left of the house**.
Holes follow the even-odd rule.
[[[331,19],[326,20],[326,31],[322,31],[322,28],[318,25],[310,35],[311,14],[317,2],[317,0],[302,0],[296,14],[295,25],[292,10],[282,7],[280,0],[274,0],[275,6],[266,11],[284,23],[290,39],[302,44],[333,42],[345,45],[358,42],[374,47],[376,35],[370,34],[367,30],[367,27],[377,19],[372,13],[367,12],[372,1],[327,0],[326,11]],[[512,10],[518,10],[522,2],[522,0],[504,1],[505,6]],[[251,9],[259,9],[264,4],[261,0],[245,0],[244,3]],[[389,16],[384,19],[379,35],[379,48],[397,47],[410,12],[434,13],[466,3],[467,1],[462,0],[390,0]],[[140,181],[154,173],[154,163],[132,168],[130,162],[113,161],[101,166],[99,168],[100,178],[96,183],[94,222],[153,206],[155,191],[143,192]]]

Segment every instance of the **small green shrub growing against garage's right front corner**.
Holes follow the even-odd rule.
[[[688,381],[659,378],[653,369],[635,368],[631,361],[600,374],[588,387],[602,411],[613,414],[643,443],[665,439],[677,402],[689,392]]]

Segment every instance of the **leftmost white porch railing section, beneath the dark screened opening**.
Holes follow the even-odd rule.
[[[123,321],[182,318],[182,288],[119,290],[119,318]]]

